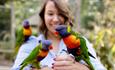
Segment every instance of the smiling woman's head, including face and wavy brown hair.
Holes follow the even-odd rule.
[[[69,19],[72,19],[70,10],[62,0],[46,0],[39,15],[42,21],[39,30],[43,34],[47,32],[46,26],[48,28],[51,28],[51,26],[48,25],[50,22],[55,22],[55,25],[67,24],[67,21],[69,21]],[[59,23],[58,20],[62,21],[62,23]],[[52,23],[50,23],[50,25],[54,25]]]

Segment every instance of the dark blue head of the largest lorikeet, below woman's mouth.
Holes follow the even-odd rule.
[[[56,31],[59,33],[61,37],[66,37],[70,35],[70,33],[67,31],[67,26],[66,25],[58,25],[56,27]]]

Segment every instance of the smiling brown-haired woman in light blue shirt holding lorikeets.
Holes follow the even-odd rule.
[[[17,55],[14,66],[12,69],[19,70],[19,65],[29,55],[33,48],[37,45],[38,40],[49,39],[51,40],[53,49],[50,50],[48,55],[40,62],[41,70],[90,70],[83,61],[76,62],[74,58],[66,54],[66,45],[59,36],[55,35],[56,25],[66,25],[71,19],[71,14],[67,5],[62,2],[63,0],[46,0],[39,15],[41,18],[40,32],[38,38],[31,36],[28,42],[24,43]],[[87,40],[86,40],[87,41]],[[92,45],[87,41],[89,51],[96,57]],[[100,61],[96,58],[91,58],[91,62],[95,70],[105,70]],[[98,67],[96,67],[98,65]],[[26,67],[25,69],[30,69]]]

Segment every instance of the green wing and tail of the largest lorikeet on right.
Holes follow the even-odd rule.
[[[71,33],[73,35],[75,35],[76,38],[79,38],[80,39],[80,43],[81,43],[80,44],[81,55],[80,56],[76,56],[75,59],[77,61],[83,59],[90,66],[90,69],[94,70],[94,67],[93,67],[93,65],[90,62],[90,58],[89,58],[89,54],[88,54],[88,48],[87,48],[87,45],[86,45],[86,40],[79,33],[76,33],[76,32],[74,32],[72,30],[71,30]]]

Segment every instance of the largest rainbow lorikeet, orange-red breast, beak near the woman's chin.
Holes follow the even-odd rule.
[[[57,25],[56,33],[58,33],[67,46],[67,50],[71,53],[76,61],[84,60],[91,70],[94,70],[93,65],[90,62],[89,56],[95,58],[88,52],[86,41],[80,34],[71,30],[70,26]]]

